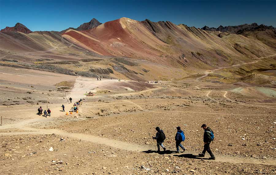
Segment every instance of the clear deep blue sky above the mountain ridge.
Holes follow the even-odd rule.
[[[253,23],[276,27],[276,1],[3,1],[0,28],[17,22],[32,31],[78,27],[93,17],[104,23],[121,17],[218,27]]]

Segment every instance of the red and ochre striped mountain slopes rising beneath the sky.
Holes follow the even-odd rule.
[[[259,64],[254,69],[271,69],[276,62],[269,58],[276,53],[273,30],[260,27],[246,28],[237,34],[207,28],[205,31],[170,21],[123,17],[101,24],[93,18],[76,29],[61,32],[26,34],[1,30],[0,40],[2,66],[87,77],[170,80],[255,61]],[[260,58],[270,60],[259,61]],[[250,72],[251,69],[242,74],[231,72],[231,81]]]

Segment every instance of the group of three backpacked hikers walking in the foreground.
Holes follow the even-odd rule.
[[[206,124],[202,124],[201,128],[204,129],[204,135],[203,135],[204,149],[203,149],[202,153],[198,154],[198,156],[205,157],[205,153],[207,151],[207,153],[209,153],[211,156],[209,159],[215,160],[216,158],[210,149],[210,143],[214,139],[214,132],[211,130],[210,127],[207,127]],[[177,132],[175,135],[176,151],[177,151],[177,153],[180,153],[180,151],[179,151],[179,147],[180,147],[184,152],[186,150],[186,148],[181,144],[181,142],[183,142],[185,140],[185,134],[181,130],[180,126],[177,126],[176,129],[177,129]],[[166,148],[163,145],[163,143],[164,143],[164,140],[166,139],[166,136],[164,134],[164,131],[161,130],[159,127],[156,127],[155,130],[157,131],[157,133],[156,133],[155,137],[152,137],[152,139],[155,139],[157,142],[157,152],[160,152],[160,146],[165,151]]]

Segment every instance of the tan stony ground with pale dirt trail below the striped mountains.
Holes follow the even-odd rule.
[[[16,92],[19,80],[13,82]],[[67,84],[63,80],[72,79],[57,78],[50,87],[63,87]],[[72,106],[62,93],[52,99],[45,96],[52,110],[47,118],[35,114],[36,104],[0,106],[4,117],[0,126],[3,174],[276,173],[273,88],[252,87],[253,95],[248,87],[241,91],[238,85],[194,80],[146,84],[78,77],[73,81],[68,95],[73,102],[85,98],[78,113],[60,111],[61,103],[66,111]],[[24,86],[21,88],[40,87],[41,94],[48,91],[44,85],[27,81]],[[86,91],[95,96],[84,96]],[[38,100],[37,95],[32,98]],[[259,103],[262,99],[269,103]],[[209,160],[209,155],[196,156],[203,148],[202,123],[215,133],[211,143],[215,161]],[[152,140],[156,126],[167,136],[167,151],[161,154],[155,153]],[[176,126],[186,135],[183,145],[187,150],[180,154],[174,146]]]

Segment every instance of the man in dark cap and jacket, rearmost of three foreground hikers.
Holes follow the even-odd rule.
[[[201,128],[204,129],[204,135],[203,135],[203,142],[204,142],[204,150],[202,151],[201,154],[198,154],[200,157],[205,157],[205,153],[207,151],[207,153],[210,154],[210,158],[211,160],[216,160],[214,154],[212,153],[211,149],[210,149],[210,143],[211,141],[213,141],[214,139],[214,132],[211,130],[210,127],[207,127],[206,124],[203,124],[201,126]]]

